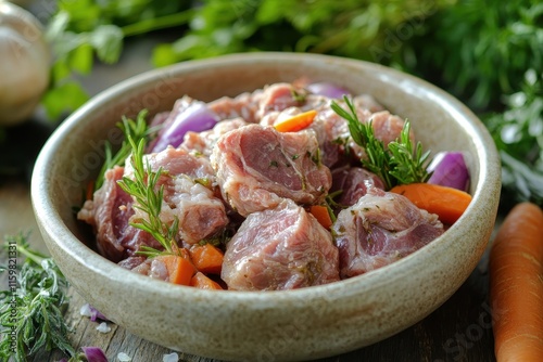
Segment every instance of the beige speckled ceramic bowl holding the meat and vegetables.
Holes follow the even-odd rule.
[[[443,236],[415,254],[351,280],[289,292],[200,290],[126,271],[96,254],[72,208],[96,177],[103,140],[118,144],[122,115],[169,109],[299,77],[372,94],[407,117],[433,152],[466,152],[473,201]],[[33,177],[36,217],[53,258],[91,305],[128,331],[188,353],[225,360],[310,360],[384,339],[420,321],[467,279],[489,241],[500,195],[500,160],[482,124],[458,101],[417,78],[359,61],[252,53],[149,72],[99,94],[45,145]]]

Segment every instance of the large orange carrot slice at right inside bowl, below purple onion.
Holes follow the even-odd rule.
[[[467,192],[431,183],[402,184],[390,192],[404,195],[418,208],[438,215],[443,223],[450,225],[459,219],[471,202]]]

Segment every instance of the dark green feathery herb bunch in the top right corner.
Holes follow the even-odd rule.
[[[433,79],[479,112],[520,89],[528,68],[543,68],[538,1],[458,0],[434,12],[421,30],[403,48],[415,59],[407,70]]]

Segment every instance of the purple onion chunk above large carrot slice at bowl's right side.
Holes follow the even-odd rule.
[[[462,152],[440,152],[428,166],[433,172],[428,183],[467,191],[469,170]]]

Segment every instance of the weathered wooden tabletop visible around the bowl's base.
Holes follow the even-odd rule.
[[[0,182],[0,235],[31,231],[31,245],[47,253],[31,210],[27,180],[24,177],[2,178]],[[4,282],[3,282],[4,283]],[[2,289],[7,288],[2,285]],[[81,316],[85,300],[70,290],[71,303],[66,321],[73,328],[70,339],[74,347],[101,347],[111,362],[125,352],[132,361],[162,361],[172,351],[148,342],[109,324],[109,333],[96,329],[99,325]],[[326,342],[326,341],[323,341]],[[178,352],[180,361],[213,361]],[[59,361],[64,355],[58,351],[41,352],[31,361]],[[491,316],[488,301],[487,258],[469,279],[443,306],[421,322],[376,345],[321,361],[494,361]]]

